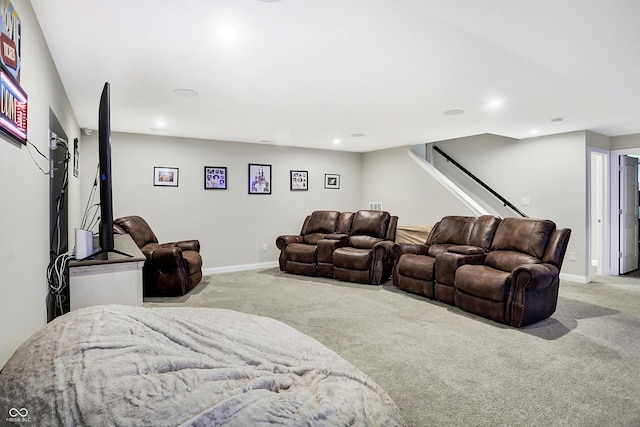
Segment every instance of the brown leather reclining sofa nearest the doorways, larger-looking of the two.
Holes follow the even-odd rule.
[[[521,327],[551,316],[571,230],[549,220],[442,218],[425,244],[394,246],[395,286]]]

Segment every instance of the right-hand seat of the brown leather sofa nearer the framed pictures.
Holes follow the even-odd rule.
[[[380,285],[391,275],[398,217],[385,211],[360,210],[344,246],[333,251],[333,278]]]

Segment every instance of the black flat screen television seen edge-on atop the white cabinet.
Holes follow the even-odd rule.
[[[111,102],[109,82],[104,84],[98,107],[98,162],[100,186],[100,249],[88,258],[109,259],[109,254],[131,256],[115,249],[113,237],[113,199],[111,179]]]

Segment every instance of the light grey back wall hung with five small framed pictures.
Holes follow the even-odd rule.
[[[97,134],[81,143],[81,209],[95,177]],[[276,237],[297,234],[313,210],[368,207],[359,153],[126,133],[112,134],[111,149],[114,215],[142,216],[160,241],[200,240],[205,272],[276,262]],[[271,195],[248,194],[249,163],[272,165]],[[154,166],[179,168],[178,187],[154,187]],[[226,166],[228,190],[204,190],[204,166]],[[290,170],[309,171],[308,191],[290,191]],[[324,188],[325,173],[340,174],[340,189]]]

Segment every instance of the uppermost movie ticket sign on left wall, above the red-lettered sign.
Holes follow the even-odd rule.
[[[22,23],[11,0],[0,1],[0,58],[9,74],[20,83]]]

